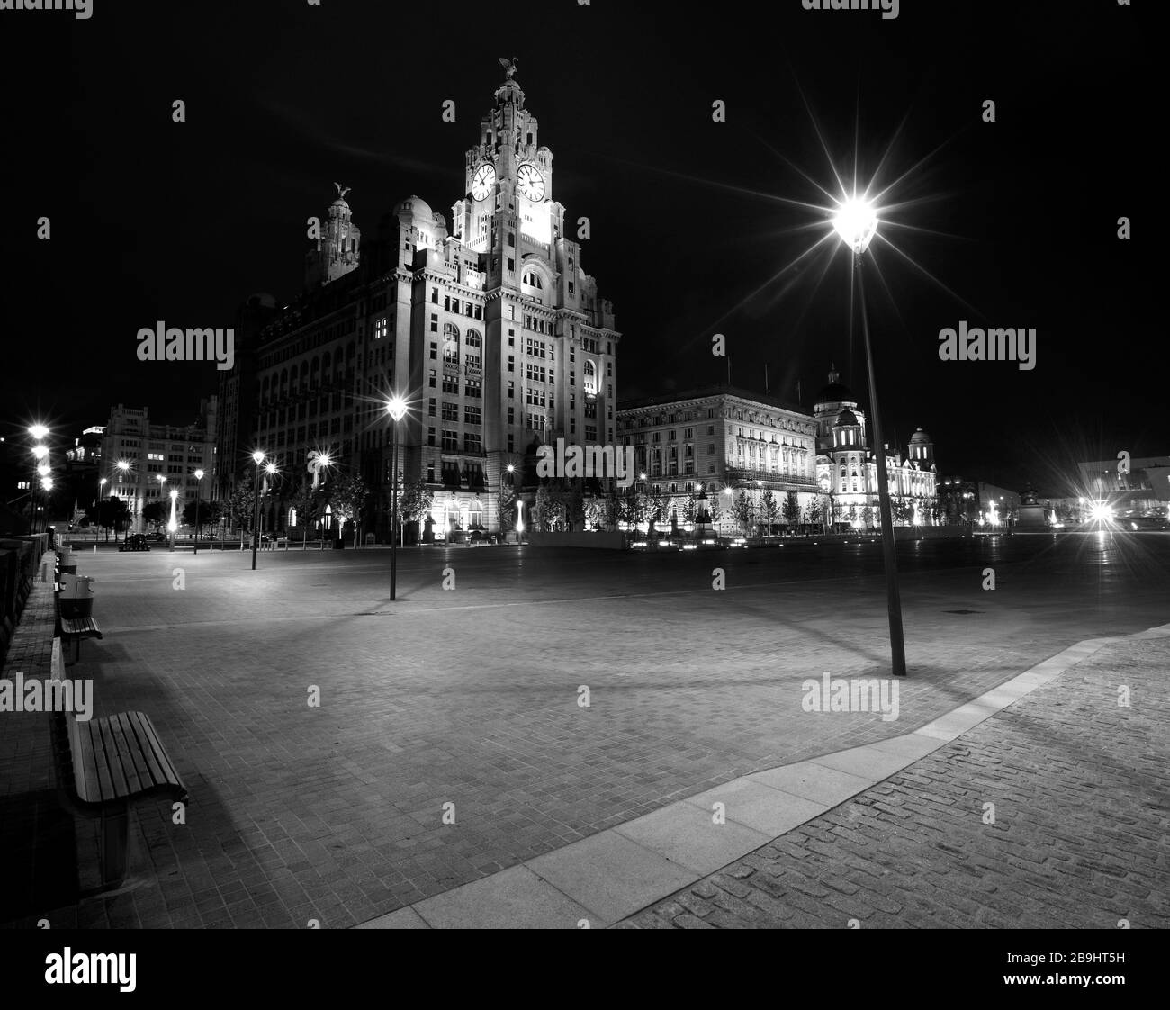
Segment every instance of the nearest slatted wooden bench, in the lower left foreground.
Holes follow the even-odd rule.
[[[60,639],[53,643],[53,678],[66,679]],[[121,712],[88,722],[71,713],[51,715],[57,786],[68,805],[101,819],[104,891],[126,875],[130,806],[151,797],[186,803],[187,789],[145,713]]]

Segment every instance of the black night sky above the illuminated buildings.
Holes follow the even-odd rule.
[[[902,0],[894,20],[799,0],[631,8],[0,12],[0,425],[47,418],[71,438],[118,401],[193,420],[214,366],[139,363],[138,329],[230,327],[255,291],[291,301],[305,219],[324,217],[333,180],[352,187],[366,234],[412,193],[449,222],[497,57],[515,56],[566,225],[592,222],[583,263],[625,335],[621,399],[724,380],[714,332],[736,385],[762,391],[766,365],[773,394],[794,401],[799,379],[811,408],[835,360],[863,397],[845,250],[782,275],[824,234],[825,217],[797,204],[827,204],[813,183],[835,190],[819,130],[849,179],[856,144],[862,183],[888,147],[879,184],[907,173],[889,199],[914,201],[893,220],[923,229],[883,228],[921,272],[876,241],[867,274],[883,417],[903,447],[921,425],[944,475],[1009,486],[1044,486],[1073,459],[1170,451],[1149,217],[1156,36],[1130,7]],[[50,241],[35,235],[42,214]],[[1035,327],[1037,367],[941,362],[938,331],[961,320]]]

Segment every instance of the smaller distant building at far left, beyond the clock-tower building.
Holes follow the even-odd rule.
[[[101,477],[108,481],[105,496],[126,503],[131,531],[145,533],[143,509],[151,502],[168,503],[176,488],[180,514],[197,495],[211,496],[216,480],[216,425],[215,397],[201,400],[199,419],[185,427],[151,424],[145,407],[118,404],[110,412],[102,439]],[[202,482],[195,470],[204,472]]]

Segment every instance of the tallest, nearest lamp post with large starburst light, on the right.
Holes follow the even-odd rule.
[[[874,378],[874,356],[869,344],[869,314],[866,311],[866,286],[862,259],[878,232],[878,212],[867,200],[846,200],[833,218],[833,227],[853,253],[853,272],[858,277],[861,303],[861,334],[866,345],[869,376],[869,410],[874,422],[878,451],[878,501],[881,511],[881,544],[886,569],[886,610],[889,616],[889,647],[894,676],[906,676],[906,641],[902,634],[902,600],[897,585],[897,554],[894,549],[894,520],[889,507],[889,480],[886,474],[886,442],[881,434],[881,408]]]

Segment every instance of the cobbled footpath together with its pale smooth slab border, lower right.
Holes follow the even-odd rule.
[[[366,928],[1164,928],[1168,671],[1170,625],[1080,643]]]

